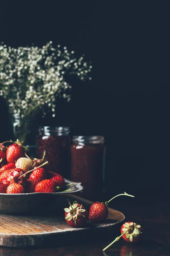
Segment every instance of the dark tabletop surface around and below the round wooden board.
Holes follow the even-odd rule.
[[[127,198],[127,197],[126,197]],[[129,244],[123,239],[113,244],[105,253],[102,249],[120,235],[118,224],[104,237],[79,241],[65,241],[59,247],[37,249],[11,249],[0,247],[0,256],[170,256],[170,204],[167,200],[135,200],[125,197],[114,201],[110,207],[124,213],[125,221],[134,221],[144,228],[144,239]]]

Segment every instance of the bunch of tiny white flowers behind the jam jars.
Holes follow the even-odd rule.
[[[46,110],[55,117],[57,97],[71,99],[68,76],[91,80],[91,64],[84,55],[76,58],[66,47],[56,48],[52,42],[36,47],[7,47],[0,44],[0,96],[6,99],[14,123],[14,134],[24,143],[29,134],[29,123],[37,113]]]

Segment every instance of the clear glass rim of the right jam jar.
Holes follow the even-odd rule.
[[[105,138],[103,136],[73,136],[73,142],[79,144],[103,144]]]

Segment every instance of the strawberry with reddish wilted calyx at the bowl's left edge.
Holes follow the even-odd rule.
[[[8,186],[10,183],[22,183],[22,179],[18,179],[23,174],[23,170],[15,168],[13,170],[5,171],[0,175],[0,181]]]

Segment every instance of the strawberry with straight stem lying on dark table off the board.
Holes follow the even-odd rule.
[[[114,244],[116,241],[118,241],[121,237],[125,239],[128,243],[136,243],[140,239],[142,239],[143,236],[143,229],[141,225],[136,224],[135,222],[125,222],[121,227],[121,236],[116,237],[116,239],[111,242],[108,246],[106,246],[103,251],[108,249],[112,244]]]

